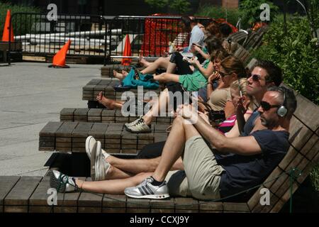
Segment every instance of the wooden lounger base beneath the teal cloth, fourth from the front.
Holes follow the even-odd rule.
[[[123,92],[116,92],[113,89],[113,86],[117,84],[120,84],[118,79],[92,79],[82,89],[82,100],[96,101],[96,96],[99,94],[99,92],[103,92],[104,96],[106,96],[108,99],[125,100],[122,99]],[[147,92],[155,92],[156,94],[159,94],[160,90],[143,89],[144,95]],[[130,91],[126,93],[126,96],[138,97],[138,89],[130,89]]]

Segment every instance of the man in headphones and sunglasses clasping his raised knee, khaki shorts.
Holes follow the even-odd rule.
[[[198,118],[191,106],[179,106],[155,172],[124,193],[145,199],[174,195],[211,200],[262,184],[289,149],[296,96],[284,87],[271,87],[260,104],[257,111],[265,129],[236,138],[219,133]],[[179,157],[183,157],[184,170],[169,171]]]

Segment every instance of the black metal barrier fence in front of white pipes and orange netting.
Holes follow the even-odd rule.
[[[50,56],[71,40],[69,56],[101,57],[104,64],[121,60],[126,39],[133,56],[159,57],[169,43],[188,45],[189,33],[182,31],[180,16],[96,16],[58,15],[49,21],[45,13],[14,13],[11,26],[15,35],[9,55]],[[196,18],[208,23],[211,18]],[[11,27],[10,26],[10,27]],[[10,58],[10,57],[9,57]]]

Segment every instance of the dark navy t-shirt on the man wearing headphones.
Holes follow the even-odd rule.
[[[242,192],[262,184],[289,149],[289,133],[268,129],[254,131],[262,153],[258,155],[218,155],[216,160],[225,171],[220,178],[221,197]]]

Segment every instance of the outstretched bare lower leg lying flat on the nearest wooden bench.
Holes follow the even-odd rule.
[[[75,179],[77,186],[81,187],[84,191],[103,193],[103,194],[124,194],[124,189],[127,187],[134,187],[143,179],[150,177],[152,172],[141,173],[134,177],[126,179],[107,179],[99,182],[84,182],[80,179]]]

